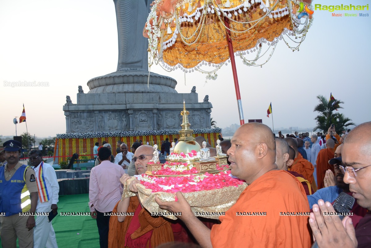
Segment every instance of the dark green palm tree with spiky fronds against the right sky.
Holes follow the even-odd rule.
[[[327,132],[331,124],[334,124],[336,132],[341,133],[341,131],[348,129],[348,126],[354,125],[351,119],[336,112],[336,109],[342,109],[340,104],[344,102],[336,99],[328,101],[325,96],[321,95],[318,95],[317,99],[319,100],[319,104],[314,108],[314,111],[320,114],[314,118],[317,122],[317,126],[313,131],[319,129],[322,132]]]

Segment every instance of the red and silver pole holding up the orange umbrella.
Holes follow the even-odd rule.
[[[229,27],[228,19],[224,17],[224,24],[226,24],[227,28]],[[228,50],[229,50],[229,57],[231,59],[231,65],[232,65],[232,73],[233,73],[233,80],[234,80],[234,89],[236,90],[236,98],[237,98],[237,106],[238,106],[238,113],[240,116],[240,125],[245,123],[245,120],[243,118],[243,110],[242,110],[242,101],[241,101],[241,94],[240,94],[240,86],[238,84],[238,77],[237,77],[237,70],[236,70],[236,61],[234,60],[234,52],[233,52],[233,45],[232,40],[230,38],[231,32],[229,29],[226,29],[227,31],[227,43],[228,43]]]

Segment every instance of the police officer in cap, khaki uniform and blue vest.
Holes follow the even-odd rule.
[[[19,162],[21,144],[16,140],[4,142],[7,164],[0,167],[0,236],[1,245],[33,248],[33,228],[37,205],[35,172]]]

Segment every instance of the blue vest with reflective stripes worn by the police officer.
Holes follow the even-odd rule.
[[[22,165],[9,181],[5,180],[5,166],[0,167],[0,212],[5,216],[27,212],[31,208],[30,192],[26,186],[26,169],[30,166]]]

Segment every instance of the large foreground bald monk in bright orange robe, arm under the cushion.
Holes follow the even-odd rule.
[[[280,216],[280,212],[308,212],[309,206],[301,183],[277,169],[272,130],[262,123],[246,123],[237,129],[231,143],[227,152],[231,173],[249,186],[225,216],[220,216],[221,224],[210,231],[194,216],[181,192],[177,192],[176,202],[155,198],[160,208],[182,212],[178,217],[204,248],[310,247],[307,216]],[[240,216],[243,212],[266,212],[266,216]]]

